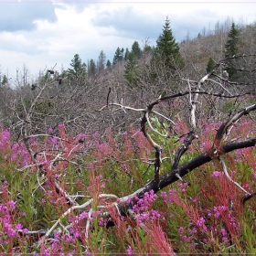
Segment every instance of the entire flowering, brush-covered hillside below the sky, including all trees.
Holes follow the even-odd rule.
[[[256,27],[165,27],[1,86],[0,253],[255,254]]]

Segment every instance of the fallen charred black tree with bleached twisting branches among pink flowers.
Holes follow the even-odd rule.
[[[216,68],[208,73],[206,76],[204,76],[199,81],[191,81],[186,80],[188,83],[188,90],[187,91],[180,91],[175,94],[171,94],[169,96],[165,97],[159,97],[156,101],[152,101],[149,103],[145,108],[134,108],[132,106],[126,106],[122,103],[118,102],[109,102],[109,96],[110,91],[107,95],[107,104],[104,105],[99,112],[106,112],[111,111],[112,108],[116,109],[119,108],[123,111],[133,111],[133,112],[142,112],[143,117],[141,118],[140,126],[141,126],[141,132],[144,134],[144,137],[149,142],[151,147],[155,150],[155,176],[148,180],[144,186],[140,187],[136,191],[134,191],[131,195],[127,195],[125,197],[118,198],[114,195],[99,195],[99,197],[111,197],[114,202],[112,202],[112,205],[109,205],[108,208],[112,207],[117,214],[120,216],[126,217],[130,216],[132,219],[136,219],[136,214],[133,212],[133,206],[136,205],[136,203],[139,201],[140,198],[144,197],[144,194],[146,192],[154,191],[154,193],[157,193],[164,187],[170,186],[171,184],[175,183],[176,181],[180,180],[184,182],[184,176],[191,173],[193,170],[197,169],[201,165],[205,165],[211,161],[219,161],[219,163],[222,165],[223,172],[225,175],[229,178],[230,182],[233,182],[237,187],[240,187],[236,181],[232,180],[229,176],[227,167],[225,165],[225,162],[222,159],[223,155],[228,155],[230,152],[246,148],[246,147],[253,147],[256,145],[256,137],[255,137],[255,129],[252,128],[252,131],[254,132],[254,135],[251,138],[244,138],[244,139],[235,139],[230,140],[227,142],[229,130],[233,128],[233,125],[237,123],[243,116],[251,116],[251,113],[256,111],[256,104],[252,103],[250,106],[242,108],[240,111],[232,113],[229,115],[229,117],[226,117],[224,119],[225,121],[222,122],[219,125],[219,129],[216,133],[216,136],[212,142],[212,146],[206,151],[198,155],[197,157],[188,160],[185,164],[180,164],[181,157],[186,154],[187,150],[193,144],[194,140],[197,139],[197,104],[199,101],[199,96],[210,96],[214,98],[221,98],[221,99],[237,99],[240,97],[244,97],[245,95],[250,95],[251,91],[246,91],[244,94],[238,94],[234,95],[231,94],[228,90],[223,87],[223,84],[219,83],[219,81],[212,80],[211,77],[214,76],[215,72],[217,72],[217,69],[219,69],[221,65],[221,61],[217,64]],[[221,88],[221,93],[219,92],[213,92],[213,91],[205,91],[204,90],[204,84],[207,83],[210,80],[210,82],[216,83]],[[229,82],[229,81],[228,81]],[[196,85],[192,85],[192,83],[195,83]],[[169,164],[169,169],[166,171],[165,174],[161,175],[160,170],[162,168],[162,146],[160,144],[157,144],[154,139],[152,138],[150,133],[157,133],[159,135],[163,135],[159,133],[155,128],[154,125],[151,123],[150,115],[158,115],[162,118],[165,118],[165,120],[169,121],[170,123],[174,123],[172,120],[170,120],[168,117],[166,117],[163,113],[155,111],[155,107],[158,105],[161,105],[165,103],[166,101],[180,99],[180,98],[186,98],[187,97],[187,105],[190,106],[190,131],[187,134],[183,134],[182,136],[185,136],[185,140],[183,143],[176,149],[176,153],[174,155],[172,163]],[[167,135],[168,137],[168,135]],[[240,187],[240,189],[245,193],[245,197],[241,198],[241,201],[244,202],[248,199],[251,199],[255,196],[255,193],[249,193],[244,188]],[[92,199],[91,199],[92,200]],[[63,213],[63,216],[67,216],[72,210],[76,208],[84,208],[85,206],[88,207],[91,204],[92,201],[88,201],[83,205],[80,206],[73,206],[69,208],[68,211]],[[102,208],[102,206],[101,206]],[[104,207],[103,207],[104,208]],[[108,208],[106,209],[105,216],[110,216],[108,212]],[[111,223],[108,225],[114,225],[112,223],[112,220],[110,220]],[[53,229],[56,228],[58,225],[59,220],[56,222],[54,226],[52,226],[51,229],[48,230],[48,233],[45,235],[45,239],[48,238],[49,234],[53,231]],[[89,229],[89,222],[88,222],[88,229]]]

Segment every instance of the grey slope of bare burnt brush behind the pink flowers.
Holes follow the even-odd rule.
[[[168,77],[165,66],[161,66],[162,64],[157,64],[155,68],[150,64],[155,48],[146,44],[139,49],[141,50],[140,56],[133,59],[133,69],[130,74],[132,82],[124,77],[125,69],[129,64],[129,59],[126,57],[125,60],[125,56],[124,58],[121,56],[115,65],[98,71],[93,69],[94,72],[91,71],[91,66],[87,66],[88,70],[85,69],[85,71],[80,69],[78,73],[74,73],[73,69],[69,69],[73,73],[64,70],[62,74],[55,72],[54,75],[46,71],[33,82],[32,87],[35,89],[33,91],[31,91],[31,84],[27,83],[26,73],[20,74],[20,78],[17,78],[20,85],[17,88],[14,89],[8,82],[1,88],[0,120],[5,123],[6,127],[16,129],[17,115],[19,118],[24,117],[34,97],[40,91],[39,88],[44,87],[37,102],[34,132],[38,129],[46,133],[49,127],[56,129],[59,123],[65,123],[67,128],[70,126],[75,133],[80,133],[81,129],[104,133],[109,126],[112,126],[116,132],[125,131],[131,123],[138,120],[135,113],[127,114],[122,110],[117,110],[114,111],[115,116],[113,116],[110,112],[102,113],[97,110],[100,110],[107,100],[141,108],[160,95],[187,90],[186,80],[200,80],[206,74],[209,58],[214,59],[216,63],[224,58],[230,25],[231,21],[228,18],[224,24],[217,23],[215,31],[206,32],[203,29],[198,37],[187,38],[182,42],[179,48],[186,65],[184,69],[178,70],[176,77],[173,78]],[[238,28],[240,30],[239,53],[255,53],[256,25],[240,25]],[[140,48],[139,45],[137,47]],[[131,49],[126,49],[126,51],[131,52]],[[247,60],[249,60],[247,63],[252,66],[255,63],[253,57]],[[240,63],[247,68],[246,63]],[[157,75],[153,80],[154,72]],[[218,72],[220,74],[222,69]],[[59,78],[61,78],[61,84],[59,84]],[[250,78],[243,77],[241,82],[251,84],[254,79],[255,72],[251,72]],[[46,82],[48,86],[45,86]],[[240,89],[242,88],[249,89],[240,86]],[[13,110],[11,114],[10,110]],[[176,111],[166,112],[166,114],[173,117]],[[187,113],[183,112],[183,115],[186,116]],[[135,125],[137,124],[135,122]]]

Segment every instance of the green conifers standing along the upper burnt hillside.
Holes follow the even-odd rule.
[[[239,54],[240,50],[240,29],[237,28],[234,22],[232,22],[228,40],[224,48],[225,58],[229,58]],[[139,67],[139,61],[144,55],[151,55],[151,60],[146,69],[149,69],[150,79],[155,82],[159,74],[157,67],[161,66],[162,70],[165,69],[165,77],[170,78],[175,76],[176,71],[183,69],[186,65],[183,59],[176,38],[173,36],[172,29],[170,27],[170,20],[168,17],[165,19],[165,25],[162,33],[156,41],[155,47],[144,45],[141,48],[138,41],[134,41],[131,50],[129,48],[116,48],[112,62],[110,59],[106,59],[106,55],[101,50],[97,61],[90,59],[87,65],[82,63],[80,56],[76,54],[74,59],[71,60],[71,69],[68,69],[70,74],[82,74],[87,72],[89,76],[95,76],[101,73],[104,69],[112,69],[118,63],[124,64],[123,76],[128,85],[134,87],[140,80],[142,75],[142,69]],[[214,69],[216,63],[212,57],[208,59],[208,65],[206,71],[210,72]],[[238,80],[238,72],[236,69],[236,63],[233,60],[227,61],[226,71],[229,74],[229,80]]]

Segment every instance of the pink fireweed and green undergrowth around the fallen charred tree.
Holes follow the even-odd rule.
[[[157,125],[157,120],[153,122]],[[207,152],[217,125],[205,123],[181,164]],[[255,136],[251,121],[236,125],[231,138]],[[99,195],[125,197],[153,178],[155,155],[143,133],[131,128],[113,136],[109,130],[103,141],[98,133],[72,137],[59,125],[58,134],[49,129],[43,138],[31,136],[32,157],[26,144],[13,142],[11,134],[3,126],[0,129],[1,252],[256,253],[256,200],[242,203],[244,192],[224,175],[218,161],[197,168],[184,182],[156,195],[146,193],[133,206],[134,220],[122,218],[111,207],[112,200]],[[153,136],[163,145],[161,174],[165,174],[181,142],[175,134],[168,139]],[[231,178],[253,193],[255,147],[237,150],[223,159]],[[72,210],[61,218],[58,229],[43,240],[46,231],[70,208],[67,195],[80,205],[93,201],[90,207]],[[115,225],[107,229],[110,221]]]

